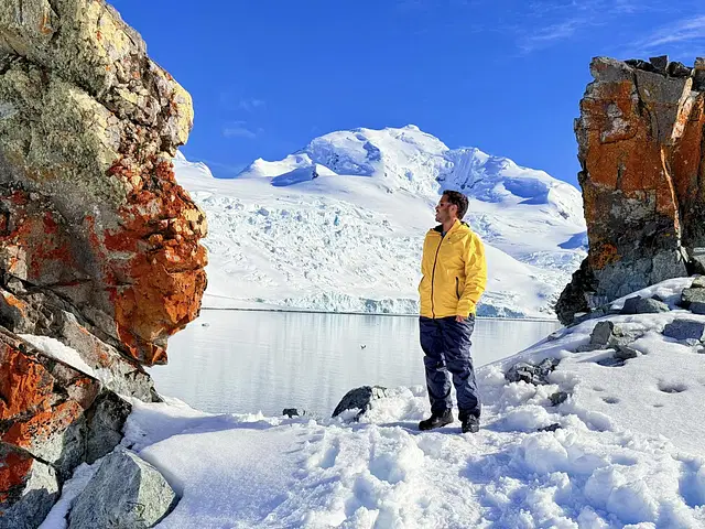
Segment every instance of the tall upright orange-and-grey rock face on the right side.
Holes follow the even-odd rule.
[[[564,324],[589,298],[705,271],[705,61],[597,57],[590,73],[575,122],[589,253],[556,305]]]

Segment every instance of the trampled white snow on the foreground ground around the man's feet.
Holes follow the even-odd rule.
[[[398,388],[359,422],[134,402],[123,444],[181,496],[162,529],[703,528],[705,354],[661,334],[674,319],[705,322],[674,305],[688,284],[641,292],[672,312],[587,321],[479,369],[477,434],[458,423],[419,432],[425,391]],[[610,366],[614,350],[576,352],[605,320],[640,335],[637,357]],[[506,380],[518,361],[544,358],[561,360],[547,385]],[[568,397],[554,406],[557,391]],[[68,484],[44,529],[65,527],[90,472]]]

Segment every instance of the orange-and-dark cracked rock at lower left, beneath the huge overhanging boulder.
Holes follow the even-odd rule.
[[[73,469],[120,442],[131,404],[2,327],[0,365],[0,527],[36,527]]]

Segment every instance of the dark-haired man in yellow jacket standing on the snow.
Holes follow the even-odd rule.
[[[479,430],[480,399],[470,335],[475,306],[487,283],[487,263],[481,240],[460,222],[466,212],[465,195],[444,192],[436,206],[436,222],[441,224],[429,231],[423,244],[420,334],[431,417],[419,423],[420,430],[453,422],[451,375],[463,433]]]

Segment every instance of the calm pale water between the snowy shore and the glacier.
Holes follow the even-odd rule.
[[[476,366],[539,342],[557,322],[478,320]],[[424,385],[412,316],[202,311],[169,342],[169,365],[150,369],[158,390],[210,412],[283,408],[329,414],[364,385]]]

